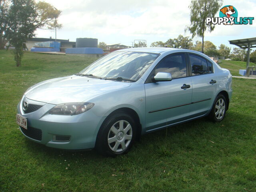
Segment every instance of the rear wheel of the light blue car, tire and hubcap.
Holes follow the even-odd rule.
[[[209,118],[214,122],[220,122],[223,120],[227,110],[227,102],[226,98],[222,94],[218,94],[213,106],[212,110],[209,114]]]

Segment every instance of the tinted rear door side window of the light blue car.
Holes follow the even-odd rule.
[[[209,73],[206,59],[193,54],[189,54],[189,58],[192,68],[192,76]]]

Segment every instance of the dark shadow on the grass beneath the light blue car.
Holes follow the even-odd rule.
[[[134,160],[136,161],[136,157],[140,155],[144,157],[171,156],[174,151],[177,153],[179,150],[199,150],[203,147],[202,143],[204,142],[216,142],[216,139],[219,140],[225,136],[230,136],[230,130],[236,132],[239,129],[237,124],[240,124],[241,119],[246,119],[247,121],[248,116],[242,113],[228,111],[222,122],[214,123],[208,120],[208,118],[200,118],[142,135],[140,140],[135,142],[131,151],[123,157],[135,158]],[[50,148],[28,139],[26,139],[25,144],[30,152],[43,154],[43,156],[47,156],[50,159],[64,156],[71,160],[78,160],[78,157],[82,157],[83,160],[94,159],[96,161],[104,161],[107,158],[98,154],[94,149],[61,150]]]

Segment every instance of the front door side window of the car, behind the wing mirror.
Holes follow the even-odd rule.
[[[155,74],[167,72],[172,74],[172,78],[187,76],[186,60],[184,54],[175,54],[162,59],[155,68]]]

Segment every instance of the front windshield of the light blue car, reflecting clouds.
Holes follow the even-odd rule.
[[[119,77],[138,80],[159,54],[144,52],[112,52],[85,68],[80,74],[101,78]]]

